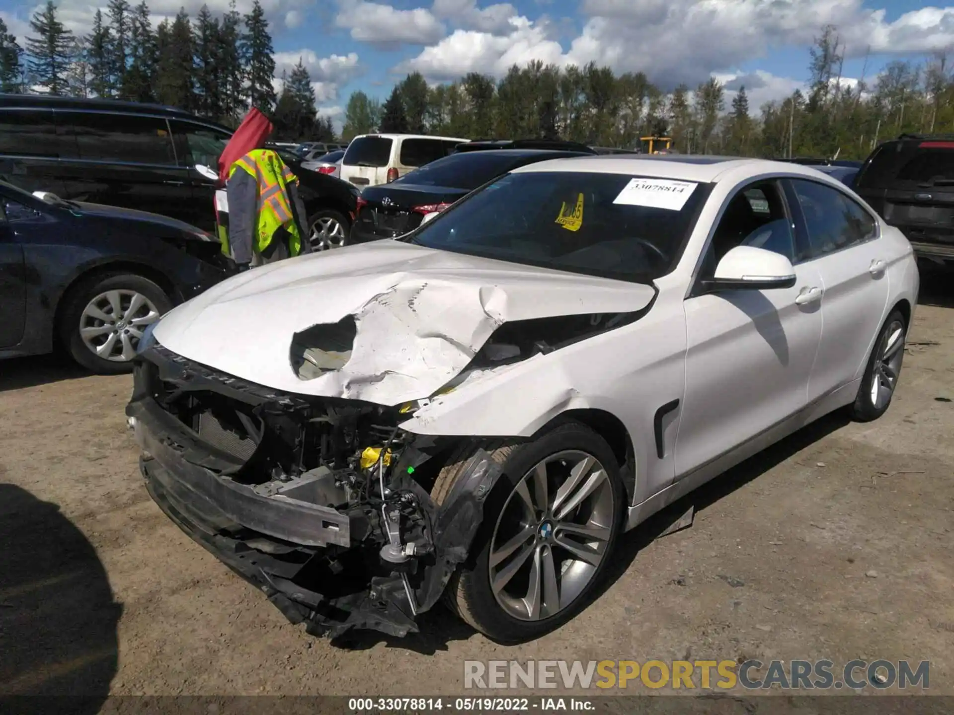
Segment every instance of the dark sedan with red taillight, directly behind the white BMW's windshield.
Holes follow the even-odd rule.
[[[425,215],[440,213],[490,179],[547,159],[587,156],[585,152],[541,149],[490,149],[453,153],[358,197],[351,243],[394,238],[413,231]]]

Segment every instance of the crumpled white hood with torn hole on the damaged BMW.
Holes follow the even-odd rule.
[[[630,313],[650,286],[384,240],[234,276],[178,306],[156,340],[201,364],[277,390],[385,405],[425,398],[459,375],[505,322]],[[351,355],[301,379],[291,343],[353,316]]]

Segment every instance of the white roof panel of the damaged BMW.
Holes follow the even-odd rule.
[[[723,174],[734,170],[745,174],[800,174],[818,176],[813,167],[769,159],[738,156],[710,156],[704,154],[597,154],[555,159],[529,164],[514,173],[531,172],[589,172],[593,174],[632,174],[715,183]]]

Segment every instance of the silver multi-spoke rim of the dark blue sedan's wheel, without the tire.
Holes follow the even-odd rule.
[[[112,362],[135,357],[142,331],[159,319],[156,305],[135,291],[107,291],[95,296],[79,318],[79,336],[96,356]]]

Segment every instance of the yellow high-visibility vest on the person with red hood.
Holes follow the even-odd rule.
[[[259,255],[272,242],[272,236],[282,226],[291,234],[288,241],[289,255],[301,253],[301,235],[292,213],[291,197],[286,186],[298,177],[271,149],[255,149],[238,159],[229,169],[229,178],[241,169],[255,178],[259,184],[259,205],[256,207],[255,248]]]

